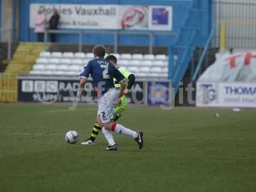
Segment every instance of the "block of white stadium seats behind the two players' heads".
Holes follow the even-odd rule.
[[[118,65],[133,72],[139,78],[168,78],[168,57],[163,54],[114,54]],[[31,75],[77,76],[83,66],[92,60],[93,53],[40,52]]]

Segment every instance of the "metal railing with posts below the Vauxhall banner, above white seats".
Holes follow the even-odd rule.
[[[153,46],[154,46],[154,36],[163,35],[163,36],[177,36],[177,33],[174,32],[166,32],[166,31],[124,31],[124,30],[96,30],[96,29],[88,29],[88,30],[67,30],[67,29],[47,29],[44,33],[44,45],[45,49],[47,47],[47,35],[49,33],[59,33],[59,34],[77,34],[79,35],[79,52],[82,51],[82,38],[83,34],[111,34],[114,36],[114,52],[118,52],[118,36],[119,35],[147,35],[149,38],[148,43],[148,52],[152,54]]]

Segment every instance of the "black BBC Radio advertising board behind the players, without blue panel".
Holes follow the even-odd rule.
[[[127,102],[145,104],[144,83],[137,81],[132,86]],[[20,102],[73,102],[79,89],[79,81],[70,79],[19,79],[18,100]],[[97,102],[91,81],[85,84],[80,102]]]

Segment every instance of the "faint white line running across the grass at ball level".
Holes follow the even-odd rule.
[[[84,135],[88,133],[81,133]],[[0,135],[17,135],[17,136],[64,136],[61,133],[12,133],[12,132],[0,132]],[[103,136],[99,136],[103,137]],[[161,139],[173,139],[173,140],[256,140],[256,138],[196,138],[196,137],[162,137],[162,136],[143,136],[143,138],[161,138]]]

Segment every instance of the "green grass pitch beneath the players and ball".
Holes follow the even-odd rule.
[[[256,191],[256,111],[129,106],[119,122],[144,148],[114,133],[118,150],[86,139],[97,106],[0,105],[0,191]],[[220,117],[216,116],[220,114]]]

